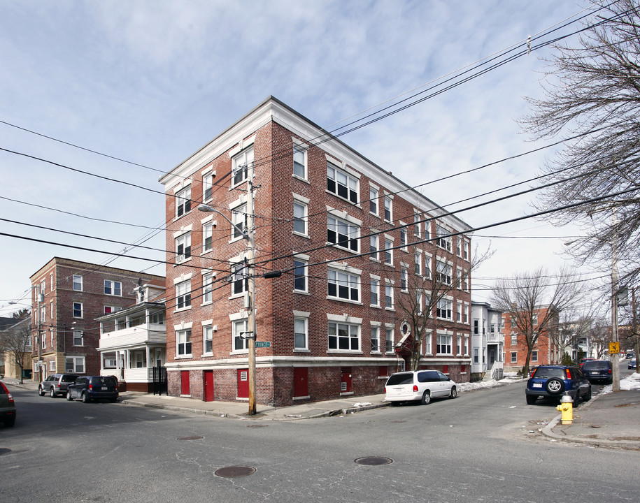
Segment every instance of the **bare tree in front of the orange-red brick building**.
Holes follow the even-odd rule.
[[[496,282],[491,304],[511,316],[511,326],[522,335],[527,348],[523,375],[529,372],[531,353],[540,336],[554,337],[560,313],[573,309],[580,294],[576,275],[566,269],[549,275],[539,268]]]

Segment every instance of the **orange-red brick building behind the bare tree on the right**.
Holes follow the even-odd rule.
[[[539,326],[548,312],[549,306],[536,307],[533,311],[533,325]],[[525,366],[527,358],[527,342],[525,335],[515,326],[515,320],[511,319],[511,314],[502,315],[502,332],[504,333],[504,370],[505,372],[519,372]],[[548,326],[541,330],[538,340],[531,353],[529,366],[550,365],[560,363],[562,360],[562,349],[557,340],[557,330],[559,326],[559,316],[556,314],[548,323]]]

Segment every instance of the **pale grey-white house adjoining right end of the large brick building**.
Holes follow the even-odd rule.
[[[471,302],[471,379],[502,379],[502,311],[487,302]]]

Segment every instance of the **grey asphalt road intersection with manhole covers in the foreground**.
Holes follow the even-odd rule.
[[[637,501],[640,453],[551,442],[555,404],[525,404],[524,384],[293,422],[14,394],[2,502]],[[255,473],[214,473],[232,466]]]

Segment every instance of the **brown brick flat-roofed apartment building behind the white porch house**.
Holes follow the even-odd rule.
[[[99,375],[96,319],[134,304],[138,281],[164,282],[162,276],[59,257],[30,279],[34,380],[60,372]]]

